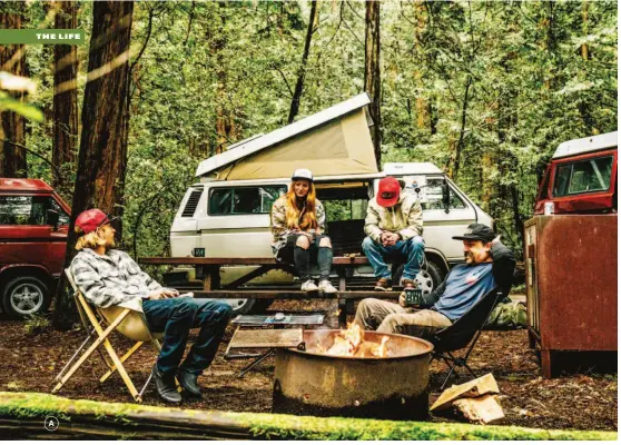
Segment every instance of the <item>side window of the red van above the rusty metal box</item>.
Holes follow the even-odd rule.
[[[612,156],[560,165],[554,180],[554,196],[605,191],[610,188]]]

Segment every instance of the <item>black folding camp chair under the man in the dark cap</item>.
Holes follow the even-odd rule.
[[[448,366],[448,375],[440,387],[444,389],[446,382],[451,378],[453,373],[457,374],[456,367],[465,367],[474,378],[476,374],[467,365],[467,359],[476,345],[476,340],[481,336],[481,332],[485,326],[485,322],[490,314],[496,306],[496,303],[502,299],[503,293],[500,287],[495,287],[490,293],[485,294],[474,306],[470,308],[460,319],[451,326],[435,333],[431,343],[434,345],[431,362],[442,358]],[[470,344],[466,354],[463,357],[453,356],[453,352],[463,349]]]

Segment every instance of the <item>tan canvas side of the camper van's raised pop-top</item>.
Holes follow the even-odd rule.
[[[316,177],[377,172],[364,109],[230,164],[216,179],[286,178],[302,167]]]

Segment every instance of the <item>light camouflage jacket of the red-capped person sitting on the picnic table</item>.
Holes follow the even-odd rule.
[[[379,243],[383,230],[398,233],[402,239],[423,236],[423,208],[414,195],[401,194],[394,207],[386,208],[375,198],[368,201],[364,231],[375,243]]]

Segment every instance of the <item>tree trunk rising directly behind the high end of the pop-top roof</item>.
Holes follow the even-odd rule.
[[[382,79],[379,69],[379,0],[366,2],[365,44],[364,44],[364,89],[371,96],[368,111],[373,119],[371,138],[375,148],[377,167],[382,162]]]

